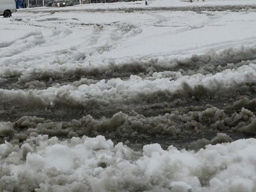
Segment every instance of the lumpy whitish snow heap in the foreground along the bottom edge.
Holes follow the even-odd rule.
[[[159,144],[134,152],[103,136],[31,136],[22,145],[0,145],[0,190],[253,192],[255,147],[256,139],[247,139],[198,152]]]

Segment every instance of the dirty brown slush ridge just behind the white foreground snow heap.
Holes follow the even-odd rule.
[[[253,100],[251,107],[255,108]],[[231,107],[231,106],[228,106]],[[234,108],[232,109],[234,110]],[[52,121],[39,117],[23,116],[16,122],[0,122],[0,136],[2,140],[26,140],[31,133],[47,134],[72,138],[83,135],[109,135],[113,140],[140,140],[149,136],[169,136],[173,139],[182,137],[188,139],[188,135],[215,135],[219,131],[227,133],[245,133],[255,135],[255,115],[252,111],[242,108],[231,116],[228,110],[219,110],[215,107],[207,108],[204,111],[191,111],[188,113],[177,110],[158,115],[145,117],[134,111],[128,114],[122,112],[114,114],[111,118],[93,118],[91,115],[83,116],[81,119],[71,121]],[[232,141],[229,136],[217,134],[211,141],[199,139],[192,142],[190,149],[198,149],[207,144],[217,144]]]

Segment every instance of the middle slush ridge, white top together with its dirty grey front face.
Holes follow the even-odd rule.
[[[235,71],[226,70],[210,76],[197,74],[190,77],[173,73],[169,74],[169,77],[162,76],[161,78],[160,75],[164,75],[163,73],[155,74],[158,78],[148,80],[138,76],[132,76],[125,81],[111,79],[93,82],[85,79],[74,85],[62,87],[56,85],[46,90],[1,89],[0,105],[8,110],[13,106],[28,111],[40,108],[53,108],[54,110],[64,107],[85,110],[85,113],[87,113],[86,110],[97,111],[100,108],[99,114],[102,114],[105,109],[125,111],[127,106],[135,106],[128,107],[129,110],[140,109],[143,105],[157,108],[169,103],[168,107],[164,108],[170,108],[170,105],[185,106],[190,102],[197,103],[202,100],[208,103],[216,102],[220,98],[223,99],[222,104],[230,103],[233,102],[233,100],[228,101],[230,97],[237,100],[241,95],[248,95],[250,98],[255,96],[254,68],[255,65],[250,64],[241,66]],[[242,70],[247,72],[242,74]],[[239,78],[235,78],[236,76]],[[109,115],[113,115],[113,112]]]

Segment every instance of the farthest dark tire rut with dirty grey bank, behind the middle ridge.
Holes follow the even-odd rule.
[[[154,72],[164,71],[177,71],[182,75],[193,75],[201,73],[203,75],[215,74],[217,72],[224,71],[226,69],[236,69],[241,65],[248,65],[249,63],[255,63],[256,59],[256,48],[255,47],[241,47],[241,48],[230,48],[222,51],[209,52],[205,55],[192,55],[189,58],[150,58],[142,57],[140,59],[129,60],[124,63],[118,61],[109,62],[108,65],[102,64],[100,66],[84,66],[84,67],[73,67],[70,65],[56,64],[54,69],[47,68],[47,71],[43,68],[37,69],[36,71],[26,71],[26,69],[20,70],[19,73],[9,70],[3,71],[1,88],[9,89],[8,87],[14,86],[16,88],[24,89],[25,83],[39,81],[45,84],[42,88],[47,88],[54,84],[66,84],[69,82],[75,82],[80,78],[87,78],[93,80],[101,79],[112,79],[121,78],[128,79],[130,75],[139,75],[143,79],[150,79]],[[82,56],[82,55],[81,55]],[[78,55],[78,58],[81,57]],[[44,56],[40,56],[37,59],[43,59]],[[67,55],[66,59],[74,57],[71,52]],[[14,60],[13,62],[17,62]],[[23,62],[23,60],[21,61]],[[65,63],[65,61],[63,61]],[[77,62],[74,60],[74,62]],[[123,61],[122,61],[123,62]],[[8,63],[11,63],[8,60]],[[64,70],[63,70],[64,69]],[[14,79],[9,81],[9,78],[17,76],[16,82]],[[19,79],[18,79],[19,78]],[[151,78],[152,79],[152,78]],[[9,83],[8,83],[9,81]],[[11,83],[11,84],[10,84]],[[36,83],[37,84],[37,83]],[[35,84],[35,85],[36,85]],[[31,83],[33,85],[33,83]],[[38,84],[40,85],[40,84]],[[42,84],[41,84],[42,86]],[[40,87],[41,87],[40,86]],[[38,89],[41,89],[37,87]]]

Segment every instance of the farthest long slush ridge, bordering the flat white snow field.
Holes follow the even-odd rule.
[[[15,50],[13,47],[10,49],[12,49],[12,51]],[[16,46],[16,49],[19,48]],[[24,49],[21,50],[24,51]],[[21,50],[19,49],[19,51]],[[10,54],[11,52],[4,52],[4,54],[7,53]],[[77,51],[69,51],[65,56],[49,55],[49,57],[44,60],[42,60],[43,56],[37,56],[37,58],[34,59],[38,60],[38,62],[35,62],[34,59],[30,61],[31,58],[3,59],[2,65],[0,65],[0,77],[19,77],[18,83],[24,84],[30,81],[50,81],[51,79],[58,80],[74,76],[77,78],[88,76],[107,77],[113,74],[117,76],[122,74],[150,73],[156,70],[169,72],[168,70],[192,68],[198,65],[205,66],[201,68],[201,71],[194,72],[195,74],[198,72],[209,74],[224,70],[224,66],[233,69],[236,67],[234,63],[245,59],[253,60],[256,58],[255,54],[255,46],[239,46],[236,48],[223,49],[221,51],[209,51],[204,55],[194,54],[185,58],[173,58],[170,56],[155,56],[150,58],[134,57],[109,59],[107,61],[102,60],[91,63],[87,60],[81,62],[81,58],[87,57],[87,55],[85,56],[85,54]],[[229,64],[229,66],[227,66],[227,64]],[[19,66],[18,69],[17,66]],[[181,72],[184,73],[184,70]],[[193,72],[190,71],[190,73],[187,74],[192,75]],[[38,87],[40,87],[40,85]]]

